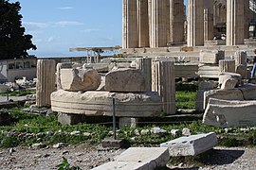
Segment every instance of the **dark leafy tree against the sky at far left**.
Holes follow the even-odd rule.
[[[20,3],[0,0],[0,59],[27,58],[27,50],[36,50],[32,36],[22,26]]]

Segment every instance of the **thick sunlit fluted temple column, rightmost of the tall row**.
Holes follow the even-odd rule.
[[[244,43],[244,10],[244,1],[227,0],[227,45],[237,45]]]

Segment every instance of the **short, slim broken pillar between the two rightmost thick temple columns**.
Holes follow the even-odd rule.
[[[204,41],[213,39],[213,0],[204,0]]]

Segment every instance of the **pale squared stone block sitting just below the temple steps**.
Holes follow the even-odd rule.
[[[200,63],[216,64],[220,59],[225,59],[225,52],[218,50],[201,50]]]

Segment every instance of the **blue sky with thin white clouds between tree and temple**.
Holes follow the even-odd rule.
[[[9,0],[16,2],[17,0]],[[84,56],[72,47],[121,46],[122,0],[18,0],[26,33],[44,57]]]

